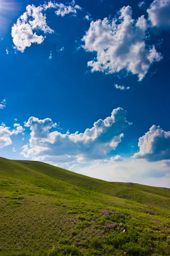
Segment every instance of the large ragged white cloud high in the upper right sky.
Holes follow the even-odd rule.
[[[89,61],[91,71],[117,73],[126,70],[137,74],[141,81],[154,61],[162,56],[154,45],[146,44],[147,20],[144,15],[132,19],[132,9],[124,6],[113,20],[91,21],[90,28],[82,38],[83,48],[96,52],[96,59]]]

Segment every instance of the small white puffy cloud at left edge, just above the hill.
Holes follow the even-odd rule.
[[[2,123],[0,125],[0,148],[11,145],[11,136],[23,133],[24,130],[20,124],[14,124],[14,129],[11,130],[10,127]]]

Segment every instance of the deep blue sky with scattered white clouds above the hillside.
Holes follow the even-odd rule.
[[[170,0],[0,1],[0,19],[0,156],[170,187]]]

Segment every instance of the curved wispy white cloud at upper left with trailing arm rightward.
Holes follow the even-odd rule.
[[[11,36],[17,50],[24,52],[26,47],[30,47],[33,43],[41,44],[45,37],[43,35],[37,35],[37,31],[42,31],[44,34],[54,32],[47,25],[44,13],[49,8],[57,9],[56,14],[61,16],[68,13],[76,14],[77,9],[81,9],[80,6],[76,5],[75,1],[70,5],[52,3],[51,1],[38,7],[28,5],[26,12],[17,19],[17,23],[11,29]]]

